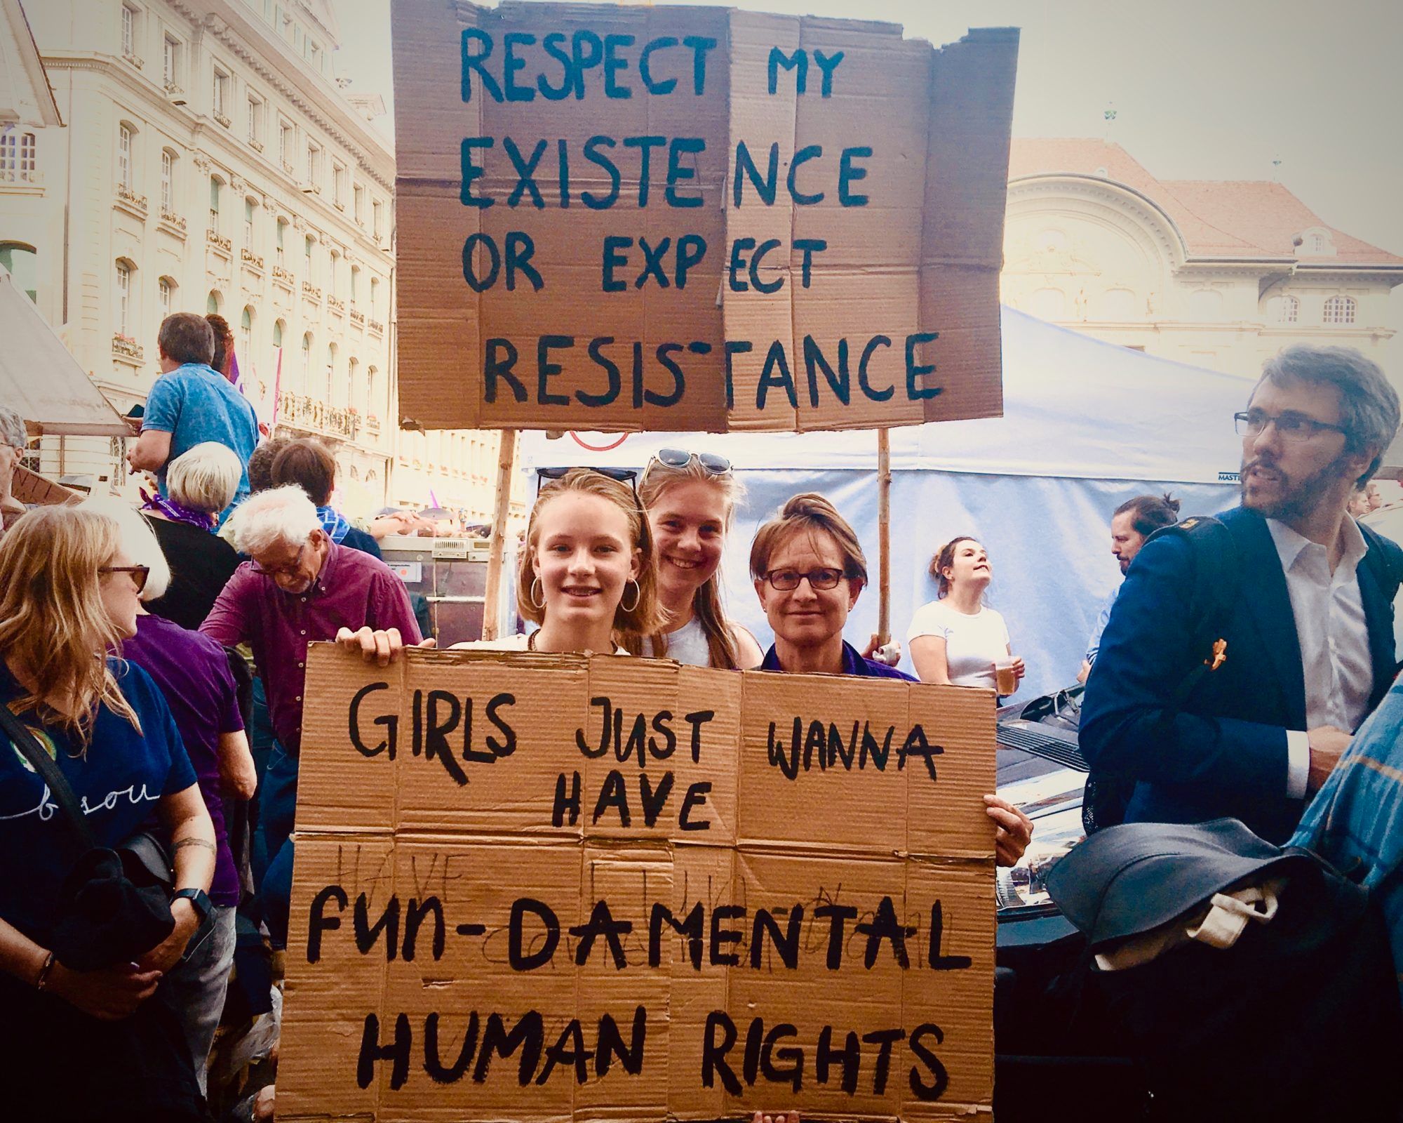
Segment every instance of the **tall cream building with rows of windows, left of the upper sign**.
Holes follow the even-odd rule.
[[[0,147],[0,264],[118,411],[167,313],[219,312],[260,421],[325,439],[348,510],[490,514],[495,434],[396,424],[394,153],[380,98],[335,76],[328,0],[25,11],[67,128],[27,131],[8,177]],[[73,438],[62,470],[119,484],[121,452]]]

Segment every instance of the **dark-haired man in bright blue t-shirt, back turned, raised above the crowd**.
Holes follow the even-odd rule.
[[[161,320],[157,335],[161,376],[146,399],[142,435],[126,453],[133,472],[154,472],[166,494],[166,466],[202,441],[227,445],[244,465],[229,517],[248,497],[248,458],[258,445],[258,417],[233,383],[209,364],[215,331],[203,316],[177,312]]]

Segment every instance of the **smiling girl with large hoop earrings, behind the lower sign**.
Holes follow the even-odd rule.
[[[453,647],[629,654],[626,644],[662,627],[657,580],[652,535],[633,487],[571,467],[542,483],[516,569],[516,606],[540,629]]]

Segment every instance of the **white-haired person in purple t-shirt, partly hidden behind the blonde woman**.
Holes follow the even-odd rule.
[[[122,549],[150,567],[142,602],[163,595],[170,584],[170,566],[150,525],[125,507],[109,510],[104,504],[104,514],[115,518],[121,528]],[[205,1067],[234,963],[234,914],[240,891],[224,824],[224,797],[253,797],[257,786],[254,761],[229,658],[215,640],[152,615],[139,604],[136,634],[122,642],[121,654],[146,671],[166,696],[215,824],[217,852],[215,880],[209,886],[213,931],[203,945],[167,973],[163,984],[180,1012],[195,1075],[205,1091]]]

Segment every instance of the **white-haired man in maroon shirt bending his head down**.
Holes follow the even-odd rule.
[[[274,487],[248,498],[234,514],[233,533],[234,547],[251,560],[229,578],[199,630],[224,647],[253,647],[268,692],[276,740],[258,792],[269,859],[261,891],[264,919],[281,948],[292,894],[289,835],[297,803],[307,644],[337,640],[384,667],[421,637],[394,570],[333,542],[300,487]]]

